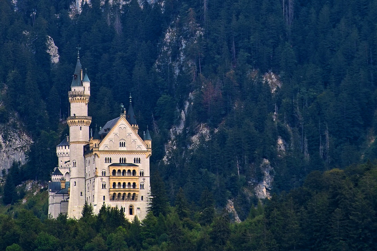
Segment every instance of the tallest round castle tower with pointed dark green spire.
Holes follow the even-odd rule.
[[[84,145],[89,143],[89,126],[92,117],[88,116],[88,102],[90,97],[90,81],[81,69],[80,55],[77,63],[71,91],[68,92],[70,116],[67,118],[69,126],[69,160],[70,160],[70,194],[68,217],[81,217],[85,204],[85,159]]]

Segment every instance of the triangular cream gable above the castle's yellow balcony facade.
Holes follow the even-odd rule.
[[[135,130],[133,130],[124,116],[121,116],[118,121],[114,123],[110,131],[99,144],[100,150],[105,151],[146,151],[146,147],[147,145]]]

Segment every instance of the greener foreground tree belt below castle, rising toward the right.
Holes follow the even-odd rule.
[[[183,191],[175,207],[142,223],[106,208],[92,215],[86,205],[80,220],[41,221],[32,211],[0,215],[0,248],[20,250],[375,250],[377,243],[377,165],[368,162],[346,170],[308,175],[290,193],[252,207],[241,223],[213,212],[214,200],[201,197],[201,210],[189,205]],[[206,202],[205,202],[206,201]],[[121,209],[121,208],[120,208]],[[160,208],[161,209],[161,208]],[[212,211],[213,214],[208,214]],[[206,213],[204,213],[206,212]]]

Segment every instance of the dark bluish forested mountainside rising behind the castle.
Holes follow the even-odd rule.
[[[258,186],[262,197],[290,193],[312,171],[333,177],[377,158],[377,0],[90,0],[80,10],[70,0],[2,0],[0,11],[0,123],[20,127],[19,117],[34,141],[8,184],[47,180],[56,166],[78,47],[92,126],[118,116],[131,93],[139,133],[151,129],[152,193],[165,183],[171,205],[180,194],[206,212],[199,198],[208,196],[219,213],[231,200],[240,228],[264,224],[249,216]],[[291,200],[303,214],[304,202]],[[319,240],[279,238],[291,243],[282,249]]]

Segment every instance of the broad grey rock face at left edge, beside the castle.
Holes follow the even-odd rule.
[[[20,129],[11,125],[17,125],[18,121],[11,118],[7,124],[0,124],[0,169],[8,169],[13,161],[20,161],[25,164],[25,153],[32,144],[31,138]],[[0,176],[3,176],[0,172]]]

